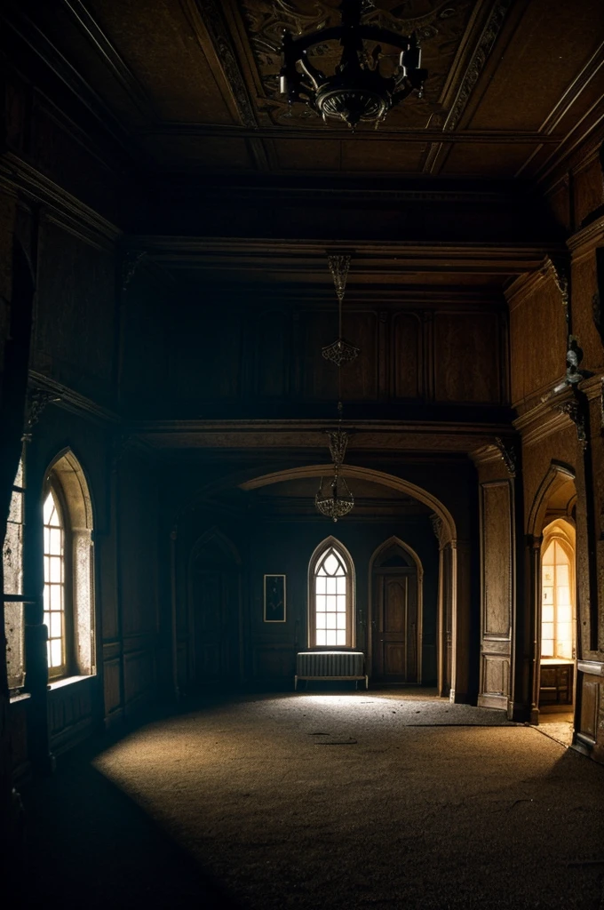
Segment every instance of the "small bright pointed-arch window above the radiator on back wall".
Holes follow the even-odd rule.
[[[315,648],[354,645],[354,570],[338,541],[324,541],[310,561],[308,643]]]

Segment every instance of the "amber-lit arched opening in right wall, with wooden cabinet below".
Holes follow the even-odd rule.
[[[543,531],[539,629],[539,716],[572,719],[577,656],[575,528],[555,519]]]

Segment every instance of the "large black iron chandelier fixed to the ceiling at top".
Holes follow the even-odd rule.
[[[342,24],[319,29],[309,35],[295,38],[289,32],[283,35],[283,66],[279,73],[279,87],[287,95],[287,103],[295,101],[307,106],[325,122],[341,120],[354,129],[360,121],[376,126],[412,91],[421,97],[428,72],[420,68],[421,50],[415,32],[398,35],[379,25],[361,22],[364,0],[342,0]],[[337,40],[342,46],[342,56],[333,76],[326,76],[308,59],[308,49]],[[369,53],[365,42],[374,44]],[[398,48],[398,65],[391,76],[382,75],[381,45]]]

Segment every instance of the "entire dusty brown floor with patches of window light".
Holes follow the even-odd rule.
[[[498,712],[309,691],[148,723],[30,817],[64,907],[604,910],[603,806],[604,768]]]

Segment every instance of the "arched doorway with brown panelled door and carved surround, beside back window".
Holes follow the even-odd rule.
[[[369,657],[371,679],[421,682],[423,570],[417,554],[398,538],[371,560]]]

